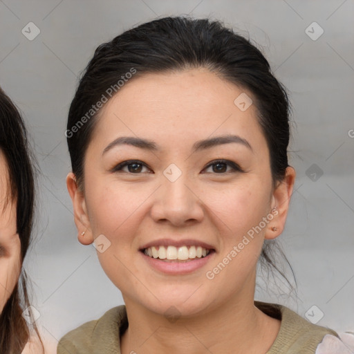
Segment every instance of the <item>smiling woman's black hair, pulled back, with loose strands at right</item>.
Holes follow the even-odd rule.
[[[84,156],[100,117],[100,110],[92,115],[91,112],[102,101],[102,95],[107,98],[112,88],[119,93],[120,82],[124,85],[125,81],[146,73],[200,67],[252,92],[258,122],[270,151],[273,187],[283,180],[289,166],[290,104],[286,88],[272,74],[267,59],[248,39],[219,21],[165,17],[101,44],[86,66],[71,102],[66,131],[73,174],[80,189],[84,189]],[[261,261],[272,265],[286,279],[277,266],[274,250],[286,259],[275,241],[266,240]]]

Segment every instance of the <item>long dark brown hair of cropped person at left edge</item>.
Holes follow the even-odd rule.
[[[17,233],[21,241],[22,265],[31,241],[35,201],[34,170],[24,120],[22,120],[15,104],[1,88],[0,149],[6,158],[8,168],[10,190],[7,203],[17,200]],[[30,306],[27,281],[26,272],[22,269],[19,281],[1,312],[1,354],[21,353],[30,339],[30,328],[22,316],[24,309]],[[35,324],[32,330],[39,336]]]

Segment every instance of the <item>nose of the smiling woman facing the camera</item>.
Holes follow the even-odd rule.
[[[151,217],[154,221],[184,226],[201,222],[204,207],[196,187],[184,175],[171,182],[162,176],[162,185],[154,194]]]

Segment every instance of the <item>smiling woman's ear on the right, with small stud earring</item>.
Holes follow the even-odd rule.
[[[272,218],[272,221],[268,223],[268,227],[264,235],[265,239],[275,239],[284,230],[292,189],[295,184],[295,176],[295,169],[293,167],[287,167],[286,176],[274,189],[271,208],[277,207],[277,209],[275,212],[272,212],[274,217]],[[272,227],[277,227],[277,230],[273,231]]]

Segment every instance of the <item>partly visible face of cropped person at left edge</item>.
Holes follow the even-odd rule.
[[[8,164],[0,150],[0,313],[21,269],[21,243],[16,228],[16,202],[10,195]]]

